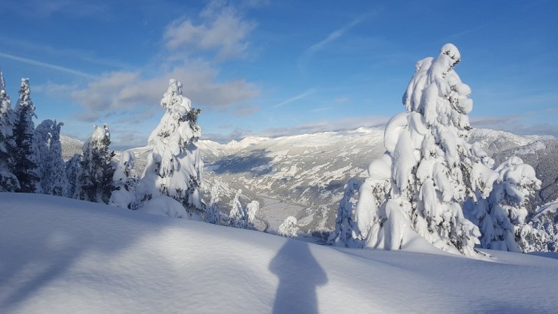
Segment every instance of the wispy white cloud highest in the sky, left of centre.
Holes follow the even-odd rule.
[[[244,20],[238,10],[213,1],[199,14],[199,23],[188,18],[169,24],[163,39],[169,51],[216,51],[216,59],[243,59],[248,56],[248,35],[255,22]],[[186,49],[183,49],[186,48]]]

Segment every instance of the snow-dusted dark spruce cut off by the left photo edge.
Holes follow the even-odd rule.
[[[0,192],[15,192],[20,189],[20,182],[10,167],[15,163],[11,154],[15,151],[14,118],[11,100],[6,93],[6,81],[0,71]]]

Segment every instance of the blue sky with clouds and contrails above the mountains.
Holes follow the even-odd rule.
[[[146,144],[167,80],[203,138],[382,126],[414,64],[455,44],[475,127],[558,136],[558,1],[66,1],[1,5],[0,67],[39,119]]]

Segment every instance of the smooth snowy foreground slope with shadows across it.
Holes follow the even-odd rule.
[[[555,313],[558,260],[335,249],[0,193],[1,313]]]

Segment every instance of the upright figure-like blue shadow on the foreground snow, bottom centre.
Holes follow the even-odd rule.
[[[318,313],[316,287],[327,283],[306,242],[288,240],[269,270],[279,277],[273,313]]]

